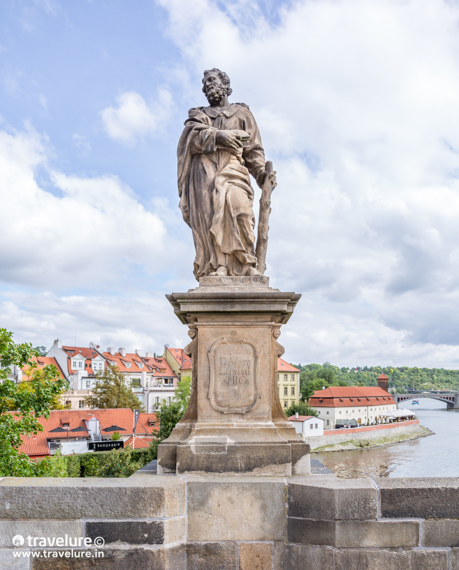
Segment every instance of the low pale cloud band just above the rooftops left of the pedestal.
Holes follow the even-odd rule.
[[[161,353],[164,344],[184,346],[189,338],[159,292],[127,297],[113,295],[57,296],[50,292],[9,292],[0,302],[1,326],[14,331],[14,340],[50,348],[55,339],[64,345],[88,346],[94,341],[106,350],[110,345]]]

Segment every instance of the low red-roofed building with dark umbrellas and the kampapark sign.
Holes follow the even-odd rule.
[[[120,427],[121,440],[132,446],[134,414],[129,408],[108,410],[51,410],[50,417],[40,418],[44,430],[31,435],[22,435],[19,451],[30,458],[46,457],[60,449],[64,455],[86,453],[89,442],[111,441],[115,430],[104,431],[112,426]],[[148,447],[158,429],[155,414],[140,414],[136,426],[135,447]],[[61,428],[66,431],[51,431]],[[80,428],[80,430],[78,430]],[[73,431],[71,431],[73,430]],[[145,439],[145,441],[142,441]]]

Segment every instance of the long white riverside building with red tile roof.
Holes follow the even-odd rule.
[[[315,390],[308,404],[318,410],[323,429],[372,424],[380,413],[397,407],[392,396],[379,386],[330,386]]]

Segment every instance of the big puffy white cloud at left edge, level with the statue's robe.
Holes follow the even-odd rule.
[[[48,166],[47,141],[36,132],[0,132],[0,279],[28,287],[131,286],[169,267],[166,229],[113,174],[67,176]],[[41,170],[40,170],[41,169]],[[37,173],[52,184],[39,186]],[[174,239],[168,240],[174,246]],[[157,267],[155,267],[157,272]]]

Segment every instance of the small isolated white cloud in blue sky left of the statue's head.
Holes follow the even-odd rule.
[[[170,116],[172,107],[172,97],[166,89],[159,89],[158,100],[150,105],[135,91],[122,93],[116,101],[117,108],[107,107],[100,116],[110,139],[127,145],[156,134]]]

